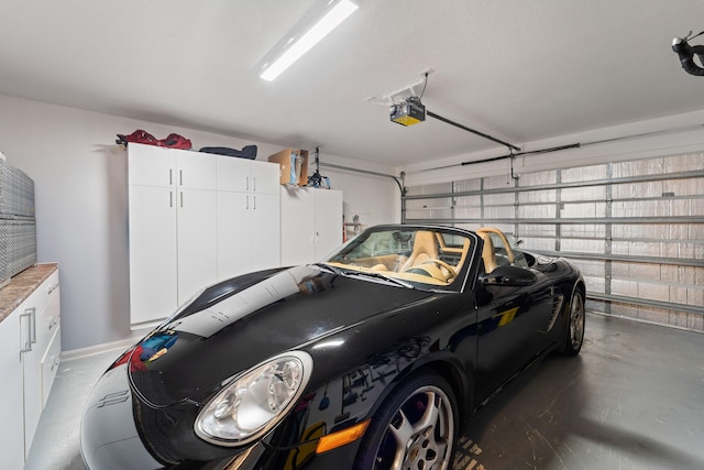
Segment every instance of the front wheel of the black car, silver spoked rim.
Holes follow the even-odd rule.
[[[458,426],[452,387],[437,373],[424,371],[400,384],[378,408],[360,444],[354,469],[448,470]]]

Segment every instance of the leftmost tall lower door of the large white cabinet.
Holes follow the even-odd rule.
[[[177,307],[176,192],[130,186],[130,311],[134,328]]]

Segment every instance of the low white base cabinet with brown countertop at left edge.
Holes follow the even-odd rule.
[[[0,302],[15,306],[0,323],[0,468],[20,469],[30,452],[61,360],[56,265],[23,271],[0,291]]]

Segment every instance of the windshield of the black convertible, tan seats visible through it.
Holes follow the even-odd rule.
[[[388,278],[411,287],[461,286],[472,239],[452,229],[375,227],[344,244],[323,261],[344,273]]]

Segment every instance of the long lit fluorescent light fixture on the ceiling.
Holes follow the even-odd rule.
[[[330,31],[334,30],[356,9],[358,6],[350,0],[328,1],[321,17],[312,28],[299,36],[296,35],[295,31],[301,31],[306,26],[294,29],[294,33],[287,35],[283,44],[279,42],[279,44],[272,50],[268,54],[272,59],[265,59],[260,77],[268,81],[278,77],[282,72],[298,61],[310,47],[315,46],[318,41],[328,35]]]

